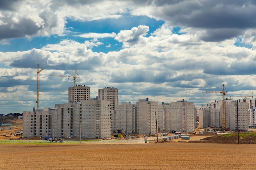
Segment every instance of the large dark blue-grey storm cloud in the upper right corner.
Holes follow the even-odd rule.
[[[219,42],[256,28],[256,6],[251,0],[187,0],[166,6],[166,2],[159,3],[162,12],[156,11],[155,16],[174,26],[204,30],[200,37],[204,41]]]

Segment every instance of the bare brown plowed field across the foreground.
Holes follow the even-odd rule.
[[[0,144],[1,170],[255,170],[255,144]]]

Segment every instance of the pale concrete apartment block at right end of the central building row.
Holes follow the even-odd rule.
[[[171,103],[171,130],[193,132],[195,130],[195,105],[184,99]]]

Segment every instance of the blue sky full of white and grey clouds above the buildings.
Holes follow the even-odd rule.
[[[73,78],[195,106],[251,97],[256,88],[254,0],[0,0],[0,113],[68,103]]]

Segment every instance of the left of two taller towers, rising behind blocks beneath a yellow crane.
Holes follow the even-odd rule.
[[[74,86],[68,88],[68,102],[81,102],[82,100],[90,99],[90,87]]]

